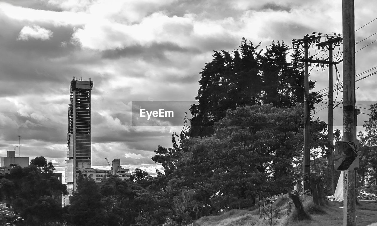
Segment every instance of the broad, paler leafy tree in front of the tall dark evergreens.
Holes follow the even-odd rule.
[[[254,105],[228,110],[211,137],[189,137],[169,190],[196,192],[199,216],[253,205],[256,197],[286,192],[302,160],[302,105]],[[313,121],[312,148],[323,147],[326,124]],[[176,198],[179,197],[176,196]],[[191,206],[190,208],[194,208]],[[195,217],[192,213],[190,217]]]

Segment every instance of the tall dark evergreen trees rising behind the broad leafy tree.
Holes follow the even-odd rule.
[[[259,46],[244,38],[233,56],[214,51],[213,60],[200,72],[198,104],[190,108],[190,136],[213,134],[214,122],[224,118],[227,109],[255,104],[287,108],[304,102],[302,51],[293,49],[288,62],[290,48],[284,41],[273,41],[263,53],[257,52]],[[314,84],[310,81],[309,88]],[[311,109],[319,102],[317,93],[311,92],[307,98]]]

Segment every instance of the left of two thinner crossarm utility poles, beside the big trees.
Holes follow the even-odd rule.
[[[304,150],[303,150],[303,191],[306,192],[310,189],[310,109],[309,109],[309,65],[308,49],[311,43],[318,40],[320,36],[308,34],[299,40],[292,40],[292,44],[303,45],[304,47]]]

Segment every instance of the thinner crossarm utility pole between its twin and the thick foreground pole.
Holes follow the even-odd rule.
[[[336,34],[334,34],[336,35]],[[327,180],[327,190],[334,194],[335,178],[334,178],[334,123],[333,123],[333,50],[335,46],[342,41],[342,38],[330,38],[327,41],[318,43],[316,46],[327,47],[329,50],[329,102],[328,102],[328,155],[327,155],[327,166],[328,166],[328,180]],[[334,45],[333,45],[334,44]],[[331,186],[329,179],[331,177]],[[330,189],[331,187],[331,189]]]

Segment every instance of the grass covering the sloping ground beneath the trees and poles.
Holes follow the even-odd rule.
[[[295,207],[292,205],[292,212],[287,216],[288,196],[279,197],[274,205],[282,208],[282,219],[278,226],[339,226],[343,225],[343,202],[329,202],[326,206],[314,205],[311,197],[303,199],[305,211],[310,215],[310,220],[296,221]],[[366,226],[377,222],[377,205],[360,203],[356,206],[357,226]],[[218,216],[202,217],[196,221],[199,226],[267,226],[267,222],[259,218],[259,210],[231,210]]]

